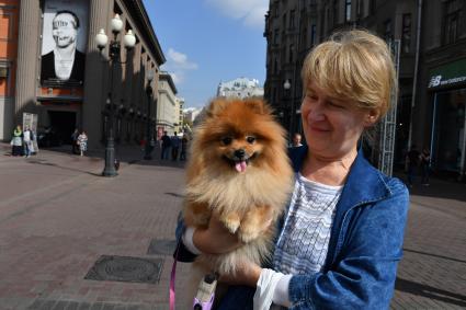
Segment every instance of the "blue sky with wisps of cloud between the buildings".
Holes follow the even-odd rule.
[[[218,83],[265,79],[269,0],[144,0],[178,96],[202,107]]]

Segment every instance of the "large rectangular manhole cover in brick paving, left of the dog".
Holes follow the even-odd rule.
[[[84,279],[156,284],[160,279],[163,260],[102,255]]]

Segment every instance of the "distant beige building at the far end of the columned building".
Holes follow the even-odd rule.
[[[157,103],[157,137],[160,138],[163,131],[170,136],[178,129],[179,100],[177,97],[177,87],[168,72],[160,72]]]

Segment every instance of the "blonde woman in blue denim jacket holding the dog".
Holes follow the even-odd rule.
[[[250,264],[223,275],[235,286],[219,309],[387,309],[408,191],[371,167],[357,141],[389,108],[396,89],[389,50],[365,31],[338,33],[309,53],[302,78],[307,147],[291,150],[295,188],[271,268]],[[239,243],[217,218],[183,237],[194,252],[223,253]]]

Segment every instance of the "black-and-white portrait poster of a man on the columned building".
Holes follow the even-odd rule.
[[[82,85],[88,7],[88,0],[44,1],[41,60],[43,85]]]

